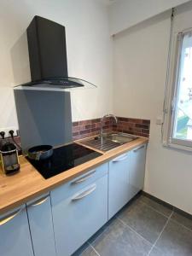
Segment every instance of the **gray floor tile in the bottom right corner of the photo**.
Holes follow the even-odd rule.
[[[160,248],[163,256],[191,256],[192,231],[170,220],[156,247]]]

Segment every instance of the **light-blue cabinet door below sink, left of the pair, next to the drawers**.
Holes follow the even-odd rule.
[[[108,218],[118,212],[129,201],[130,154],[121,154],[109,162]]]

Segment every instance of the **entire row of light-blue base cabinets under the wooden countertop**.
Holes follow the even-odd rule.
[[[141,145],[0,215],[0,255],[73,254],[143,189],[145,158]]]

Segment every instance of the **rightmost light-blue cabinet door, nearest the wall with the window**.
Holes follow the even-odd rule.
[[[131,151],[130,195],[131,198],[143,189],[145,176],[146,145]]]

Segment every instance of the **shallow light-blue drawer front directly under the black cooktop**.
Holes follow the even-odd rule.
[[[85,172],[83,175],[74,178],[72,181],[61,185],[57,189],[55,189],[56,201],[58,203],[62,201],[63,199],[67,198],[69,195],[73,195],[76,192],[78,192],[80,189],[84,189],[87,185],[90,183],[93,183],[96,181],[96,179],[106,175],[108,173],[108,163],[97,166],[96,168],[93,168],[89,172]],[[50,195],[52,192],[50,192]],[[55,203],[56,203],[55,201]]]

